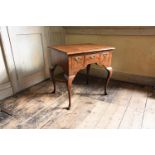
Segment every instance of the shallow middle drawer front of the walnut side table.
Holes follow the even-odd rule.
[[[97,63],[99,61],[99,54],[89,54],[85,56],[86,64]]]

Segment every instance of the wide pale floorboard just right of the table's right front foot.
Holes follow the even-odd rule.
[[[96,128],[119,128],[134,90],[132,85],[120,84],[120,86],[122,87],[117,90],[117,96],[113,98],[112,103],[108,104]]]

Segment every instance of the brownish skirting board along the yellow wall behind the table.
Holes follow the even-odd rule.
[[[81,71],[82,74],[85,74],[85,70]],[[96,77],[106,77],[106,73],[103,70],[98,68],[91,68],[90,75]],[[147,77],[147,76],[140,76],[135,74],[123,73],[118,71],[113,71],[112,78],[114,80],[125,81],[130,83],[136,83],[141,85],[149,85],[155,86],[155,78]]]

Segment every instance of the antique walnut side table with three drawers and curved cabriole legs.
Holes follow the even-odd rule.
[[[112,75],[112,51],[115,49],[111,46],[98,45],[98,44],[70,44],[70,45],[56,45],[49,46],[51,49],[51,62],[50,76],[53,82],[54,90],[56,91],[56,83],[54,78],[54,71],[57,66],[61,66],[64,71],[66,79],[69,106],[71,107],[71,87],[72,82],[81,69],[87,68],[87,83],[91,64],[97,64],[105,68],[108,72],[105,84],[104,94],[107,94],[107,86]]]

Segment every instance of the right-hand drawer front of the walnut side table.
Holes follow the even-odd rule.
[[[111,65],[111,57],[112,57],[112,54],[110,52],[108,53],[100,53],[100,64],[108,67]]]

